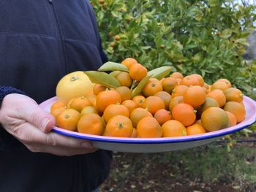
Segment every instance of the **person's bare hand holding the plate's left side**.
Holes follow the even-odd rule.
[[[89,141],[50,132],[55,123],[53,116],[28,96],[16,93],[5,96],[0,123],[32,152],[69,156],[95,151]]]

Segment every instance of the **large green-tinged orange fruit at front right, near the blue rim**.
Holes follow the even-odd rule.
[[[201,115],[201,122],[206,131],[217,131],[229,125],[227,113],[219,107],[205,110]]]

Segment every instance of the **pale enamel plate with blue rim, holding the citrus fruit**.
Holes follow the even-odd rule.
[[[41,104],[43,110],[50,112],[50,106],[57,101],[56,97],[48,99]],[[121,138],[105,137],[90,134],[80,134],[75,131],[67,131],[63,128],[53,127],[54,132],[67,137],[87,139],[93,142],[93,146],[103,150],[113,150],[128,153],[159,153],[173,150],[184,150],[200,145],[206,145],[222,138],[227,134],[232,134],[246,128],[256,122],[256,102],[248,96],[244,96],[244,106],[246,108],[246,118],[236,126],[224,128],[219,131],[212,131],[206,134],[198,134],[183,137],[162,137],[162,138]]]

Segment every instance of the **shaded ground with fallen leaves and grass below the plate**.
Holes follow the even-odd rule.
[[[256,134],[240,141],[255,141]],[[226,142],[169,153],[113,153],[99,191],[256,191],[256,143]]]

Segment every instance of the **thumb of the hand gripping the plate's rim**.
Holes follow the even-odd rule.
[[[39,105],[35,103],[25,107],[23,110],[23,118],[45,133],[48,133],[55,123],[53,115],[42,110]]]

